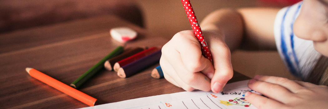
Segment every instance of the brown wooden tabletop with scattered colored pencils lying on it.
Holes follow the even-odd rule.
[[[87,107],[32,78],[25,68],[35,68],[69,85],[121,45],[110,37],[113,27],[131,27],[139,33],[127,47],[162,46],[168,42],[113,15],[0,34],[0,108]],[[157,65],[126,79],[102,70],[79,90],[100,104],[184,91],[165,79],[152,78],[150,73]],[[246,79],[235,72],[229,82]]]

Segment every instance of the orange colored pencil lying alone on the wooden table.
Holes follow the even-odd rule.
[[[34,68],[26,68],[26,71],[31,75],[31,77],[44,82],[48,85],[50,85],[51,87],[89,105],[89,106],[95,106],[98,105],[98,100],[83,93],[80,92],[76,89],[74,89],[73,87],[64,84],[63,82],[60,82],[56,79],[51,78],[50,76],[35,70]]]

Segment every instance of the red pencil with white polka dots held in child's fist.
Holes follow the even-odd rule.
[[[194,34],[195,34],[196,38],[198,39],[199,44],[201,45],[203,56],[205,58],[209,59],[213,63],[211,51],[207,46],[207,43],[203,36],[203,32],[200,29],[200,26],[199,26],[197,18],[196,18],[196,14],[194,12],[192,5],[190,4],[190,1],[189,0],[181,0],[181,2],[186,11],[187,16],[188,16],[189,23],[190,23],[191,27],[193,28]]]

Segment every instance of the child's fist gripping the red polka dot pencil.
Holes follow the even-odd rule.
[[[202,56],[201,46],[191,30],[175,34],[163,46],[160,65],[165,79],[186,91],[212,89],[218,93],[233,76],[230,50],[222,40],[223,34],[203,32],[214,66]]]

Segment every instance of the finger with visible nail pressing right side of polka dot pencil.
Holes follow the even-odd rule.
[[[221,45],[220,45],[221,44]],[[216,43],[210,46],[215,73],[211,86],[214,93],[218,93],[224,85],[232,78],[234,71],[231,65],[229,48],[223,43]]]

